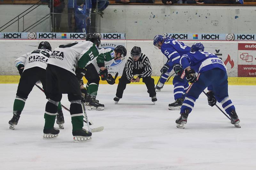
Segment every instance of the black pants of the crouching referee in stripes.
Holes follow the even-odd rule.
[[[144,69],[133,69],[132,74],[141,74],[144,71]],[[154,84],[154,79],[151,76],[148,77],[142,77],[142,82],[144,82],[147,86],[149,97],[156,96],[156,91],[155,91],[155,84]],[[126,84],[131,83],[130,80],[127,79],[126,77],[126,70],[124,68],[123,75],[119,79],[119,83],[116,89],[116,96],[119,98],[123,97],[124,89],[126,88]]]

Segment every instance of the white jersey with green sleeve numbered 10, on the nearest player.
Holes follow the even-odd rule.
[[[79,41],[60,45],[52,51],[48,64],[76,74],[76,67],[84,68],[98,56],[98,48],[91,41]]]

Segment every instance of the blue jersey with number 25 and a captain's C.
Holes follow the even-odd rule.
[[[176,39],[167,38],[164,39],[164,43],[161,46],[161,51],[169,60],[167,64],[172,67],[173,64],[179,63],[180,56],[190,52],[190,47]]]

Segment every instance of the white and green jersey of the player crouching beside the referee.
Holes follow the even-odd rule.
[[[99,49],[99,56],[96,60],[93,60],[92,64],[94,65],[95,69],[97,72],[100,71],[100,67],[98,66],[97,62],[102,62],[102,60],[98,60],[99,58],[101,58],[102,60],[104,60],[104,67],[108,67],[111,66],[111,64],[113,64],[113,62],[115,61],[115,52],[111,49],[111,48],[101,48]]]

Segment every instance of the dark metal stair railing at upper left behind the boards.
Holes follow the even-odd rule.
[[[31,11],[33,11],[34,9],[36,9],[38,6],[40,6],[41,4],[39,4],[41,1],[38,1],[36,4],[34,4],[34,5],[32,5],[30,8],[28,8],[27,10],[25,10],[25,11],[23,11],[20,15],[18,15],[17,17],[14,17],[12,20],[10,20],[9,22],[7,22],[6,24],[4,24],[3,26],[1,26],[0,27],[0,32],[2,32],[3,30],[5,30],[6,28],[8,28],[9,26],[11,26],[12,24],[14,24],[15,22],[17,22],[18,21],[18,31],[17,32],[20,32],[20,23],[19,23],[19,20],[20,19],[22,19],[23,20],[23,31],[22,32],[24,32],[25,30],[27,30],[28,28],[26,28],[25,30],[24,30],[24,16],[25,15],[27,15],[29,12],[31,12]],[[37,5],[37,6],[36,6]],[[34,6],[36,6],[36,7],[34,7]],[[34,7],[34,8],[33,8]],[[33,8],[33,9],[31,9],[31,8]],[[31,10],[30,10],[31,9]],[[27,13],[26,13],[27,12]],[[25,13],[25,14],[24,14]],[[24,15],[22,15],[22,14],[24,14]],[[21,16],[22,15],[22,16]],[[43,18],[42,18],[43,19]],[[40,19],[40,20],[42,20],[42,19]],[[39,20],[39,21],[40,21]],[[39,21],[37,21],[37,22],[39,22]],[[36,23],[37,23],[36,22]],[[41,23],[41,22],[40,22]],[[9,24],[9,25],[8,25]],[[7,26],[6,26],[7,25]],[[34,25],[34,24],[32,24],[32,25]],[[36,26],[36,25],[35,25]],[[35,27],[34,26],[34,27]],[[4,27],[4,28],[3,28]],[[29,27],[31,27],[31,26],[29,26]],[[33,28],[34,28],[33,27]],[[32,28],[31,28],[32,29]]]

